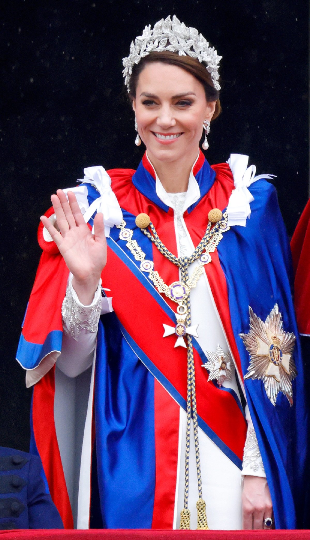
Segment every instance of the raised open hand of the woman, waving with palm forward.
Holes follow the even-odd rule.
[[[59,232],[46,216],[43,215],[41,221],[73,274],[72,285],[80,302],[89,305],[106,265],[103,214],[96,214],[93,221],[95,234],[92,234],[72,191],[68,191],[68,199],[69,202],[62,190],[51,196]]]

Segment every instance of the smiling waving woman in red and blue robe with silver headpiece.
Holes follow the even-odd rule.
[[[190,528],[190,512],[202,529],[302,523],[289,247],[268,176],[236,154],[210,167],[199,150],[220,111],[219,59],[176,17],[146,27],[124,59],[136,144],[146,145],[138,170],[109,171],[111,191],[103,168],[89,167],[41,218],[44,253],[17,357],[28,386],[37,383],[32,444],[69,527],[64,477],[72,507],[79,485],[77,525],[87,527],[91,454],[104,527]],[[86,411],[76,379],[87,385],[95,349]],[[83,443],[71,433],[81,409]]]

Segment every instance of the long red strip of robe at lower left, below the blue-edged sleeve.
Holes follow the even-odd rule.
[[[66,488],[54,421],[55,367],[33,388],[32,422],[50,494],[65,529],[73,529],[73,517]]]

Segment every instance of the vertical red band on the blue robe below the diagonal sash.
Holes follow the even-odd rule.
[[[156,478],[152,529],[172,529],[180,407],[157,380],[154,381],[154,401]]]

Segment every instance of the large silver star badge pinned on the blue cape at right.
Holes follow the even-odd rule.
[[[255,315],[251,307],[249,312],[250,332],[240,334],[251,359],[244,378],[262,380],[273,406],[279,392],[287,397],[292,406],[292,380],[297,375],[293,360],[296,337],[292,332],[284,332],[278,304],[275,304],[265,322]]]

